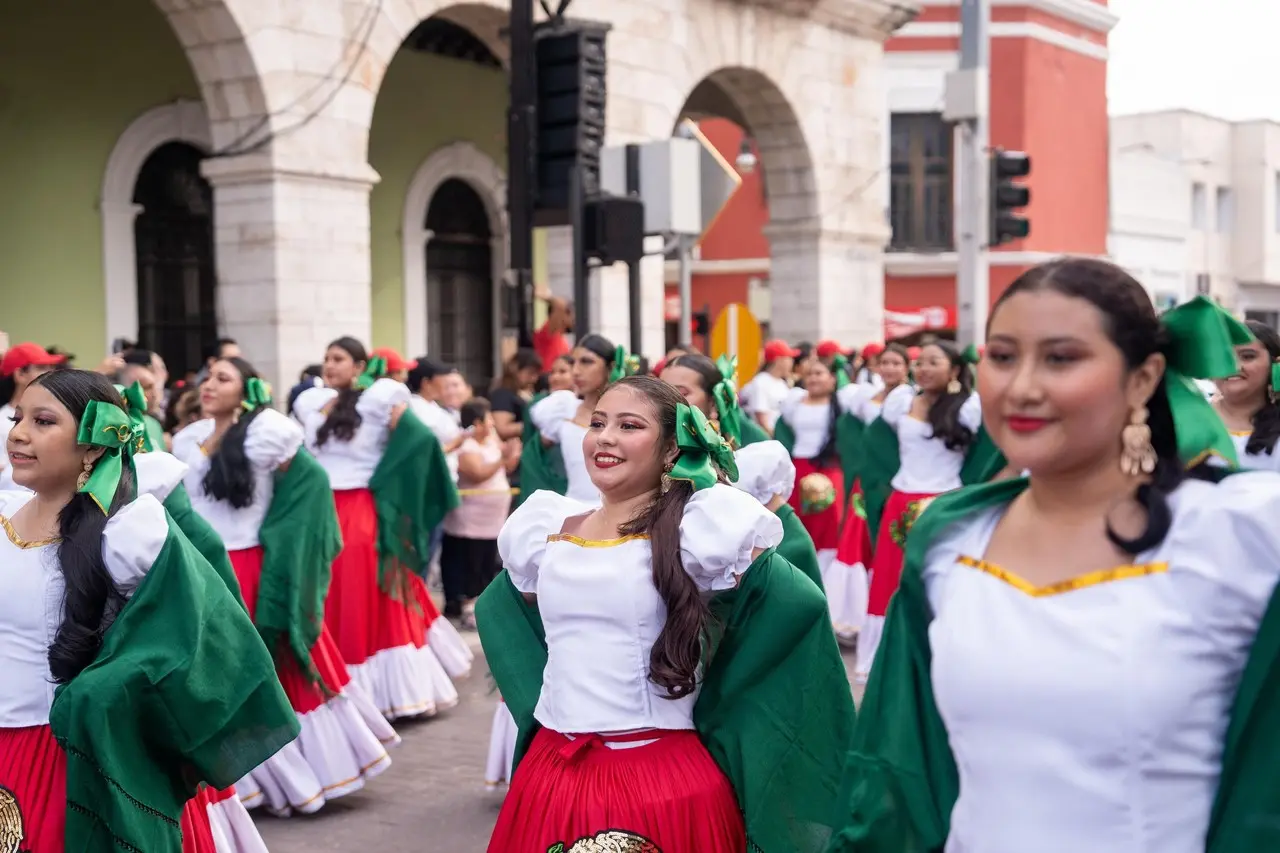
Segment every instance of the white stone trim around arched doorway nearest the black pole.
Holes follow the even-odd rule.
[[[451,142],[433,151],[413,173],[404,193],[401,215],[401,246],[403,251],[403,307],[406,357],[428,352],[426,328],[426,243],[431,232],[426,229],[426,209],[445,181],[465,181],[489,214],[492,234],[490,257],[493,263],[493,341],[494,366],[499,362],[502,347],[502,288],[507,273],[507,175],[493,158],[471,142]]]

